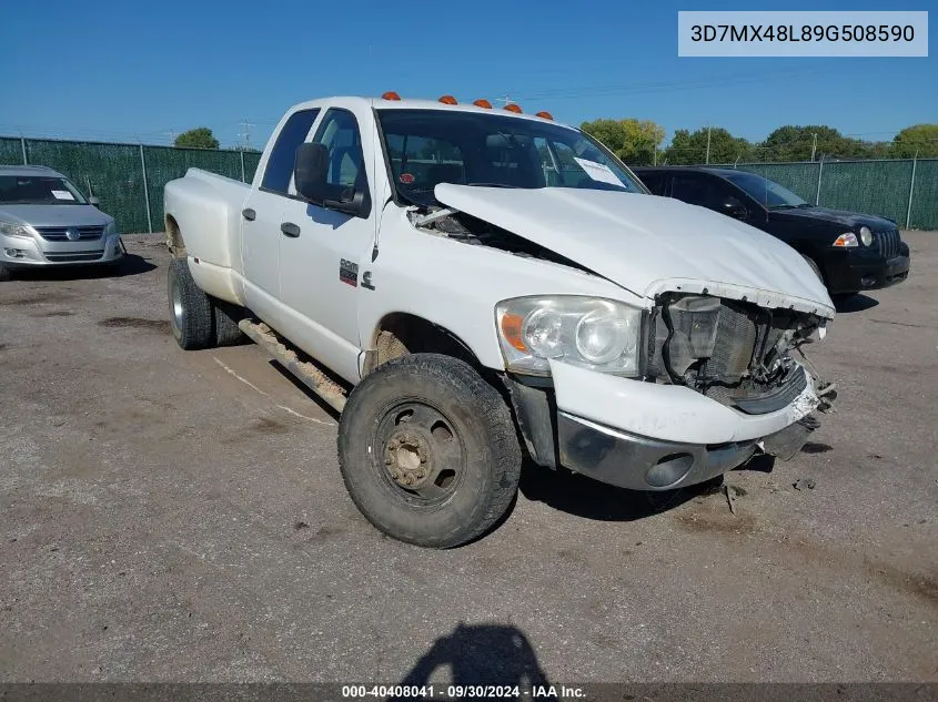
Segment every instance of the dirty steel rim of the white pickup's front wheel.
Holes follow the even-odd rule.
[[[382,485],[412,506],[446,505],[463,484],[462,435],[446,413],[424,399],[405,399],[385,409],[373,447],[373,468]]]

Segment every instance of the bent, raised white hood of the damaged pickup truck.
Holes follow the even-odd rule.
[[[834,316],[810,266],[784,242],[670,197],[563,187],[441,183],[444,205],[544,246],[622,287],[746,299]]]

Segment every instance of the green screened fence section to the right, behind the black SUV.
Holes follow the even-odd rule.
[[[938,230],[938,159],[739,163],[824,207],[876,214],[900,227]]]

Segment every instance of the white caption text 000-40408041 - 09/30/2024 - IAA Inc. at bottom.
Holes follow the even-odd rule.
[[[506,700],[575,700],[583,699],[582,688],[567,685],[343,685],[345,700],[386,698],[423,700],[472,700],[504,698]]]

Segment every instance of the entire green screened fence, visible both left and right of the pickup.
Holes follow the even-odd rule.
[[[141,146],[0,136],[0,164],[48,165],[68,175],[122,232],[163,228],[163,186],[189,167],[250,183],[255,151]],[[243,164],[243,166],[242,166]],[[808,202],[876,214],[908,228],[938,230],[938,159],[740,163],[733,167],[781,183]]]

